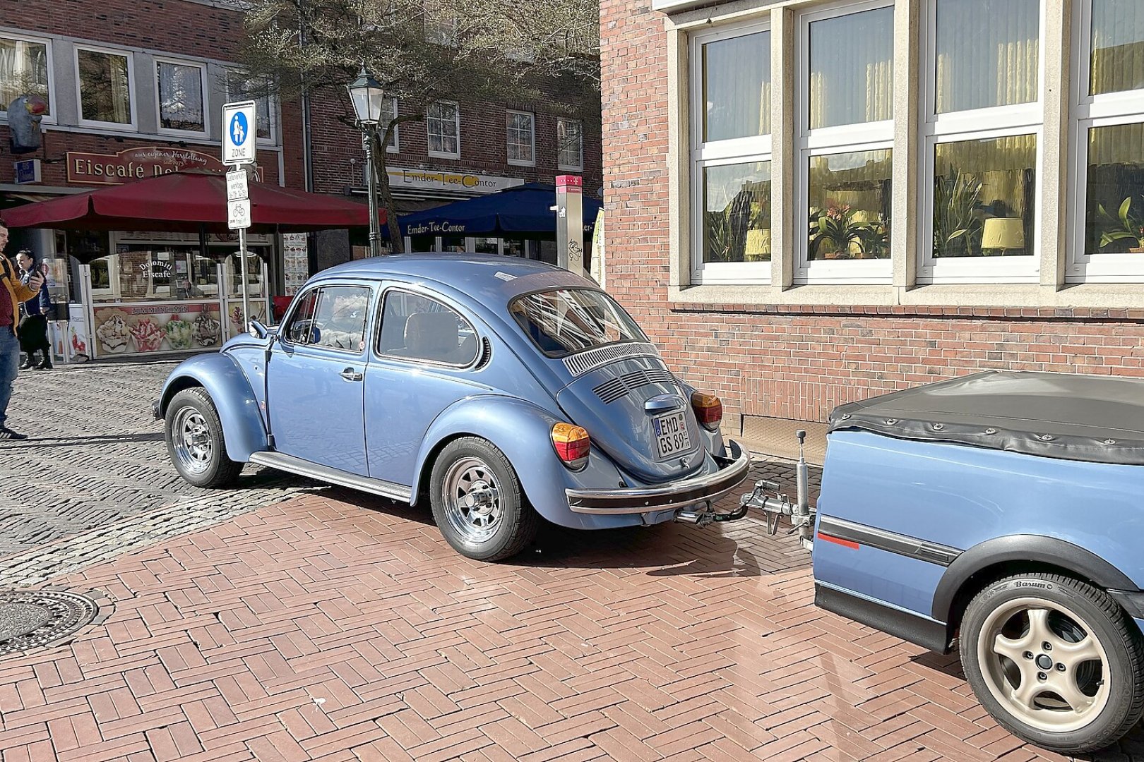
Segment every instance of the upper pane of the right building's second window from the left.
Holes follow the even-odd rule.
[[[810,129],[893,118],[893,8],[812,22]]]

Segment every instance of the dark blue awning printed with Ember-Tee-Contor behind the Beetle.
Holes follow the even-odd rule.
[[[555,235],[556,186],[526,183],[435,209],[403,215],[403,235]],[[596,222],[602,203],[583,196],[583,225]]]

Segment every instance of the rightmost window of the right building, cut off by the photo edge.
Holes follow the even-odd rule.
[[[1074,233],[1066,279],[1144,280],[1144,7],[1079,5]]]

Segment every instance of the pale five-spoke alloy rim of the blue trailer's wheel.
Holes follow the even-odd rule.
[[[977,641],[993,697],[1038,730],[1070,732],[1097,717],[1115,675],[1093,627],[1054,601],[1020,597],[993,610]]]

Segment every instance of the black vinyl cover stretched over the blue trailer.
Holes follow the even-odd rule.
[[[988,370],[839,406],[841,430],[1144,465],[1144,379]]]

